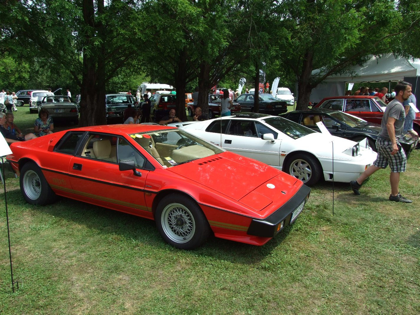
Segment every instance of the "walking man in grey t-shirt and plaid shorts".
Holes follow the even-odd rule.
[[[412,201],[402,197],[399,193],[399,177],[401,172],[405,172],[407,159],[404,150],[398,143],[404,126],[405,111],[402,103],[411,95],[411,84],[405,81],[399,82],[395,87],[395,99],[389,102],[383,113],[381,131],[376,140],[378,157],[373,165],[360,174],[359,178],[350,182],[350,187],[354,194],[360,195],[359,188],[363,181],[381,168],[388,166],[391,168],[389,181],[391,183],[391,194],[389,200],[396,202],[411,203]]]

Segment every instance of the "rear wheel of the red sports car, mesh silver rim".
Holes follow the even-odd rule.
[[[48,205],[57,198],[41,168],[33,162],[28,162],[22,167],[19,183],[26,202],[31,205]]]

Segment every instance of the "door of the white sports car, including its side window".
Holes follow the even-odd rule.
[[[261,135],[267,133],[272,133],[274,139],[277,139],[277,133],[260,122],[231,119],[226,133],[222,135],[222,148],[278,167],[280,141],[271,143],[261,139]]]

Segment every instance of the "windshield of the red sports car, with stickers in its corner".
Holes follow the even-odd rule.
[[[131,134],[130,136],[165,167],[188,163],[224,152],[215,145],[179,129]]]

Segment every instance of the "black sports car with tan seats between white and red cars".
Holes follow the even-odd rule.
[[[314,108],[312,110],[295,110],[281,115],[295,123],[300,123],[315,131],[320,131],[317,122],[321,121],[333,136],[350,139],[359,142],[367,138],[369,146],[376,152],[376,139],[378,138],[381,126],[376,123],[367,122],[356,116],[343,113],[339,110],[327,108]],[[417,136],[406,133],[401,136],[399,143],[406,155],[414,149]]]

